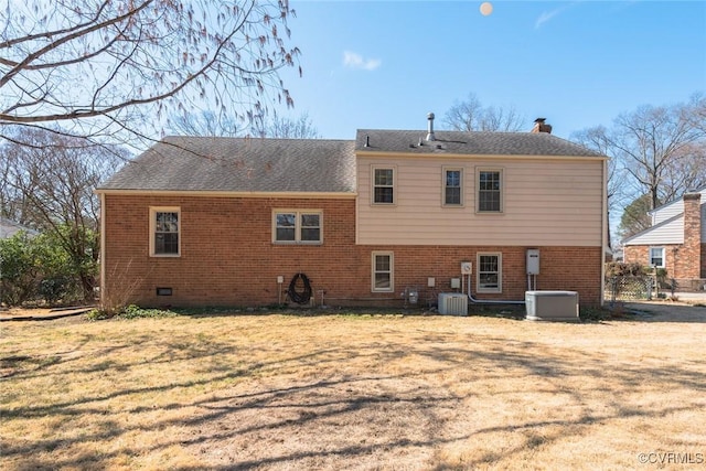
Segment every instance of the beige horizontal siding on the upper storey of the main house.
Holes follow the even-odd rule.
[[[394,165],[395,205],[371,205],[371,168]],[[463,206],[442,207],[442,169],[463,169]],[[503,213],[477,214],[477,169],[502,169]],[[357,158],[357,243],[601,246],[599,159]]]

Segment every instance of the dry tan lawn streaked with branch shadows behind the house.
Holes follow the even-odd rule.
[[[696,319],[3,322],[0,468],[704,469]]]

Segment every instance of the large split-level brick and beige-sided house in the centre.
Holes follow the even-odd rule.
[[[469,285],[479,300],[524,300],[531,283],[599,304],[607,158],[547,128],[434,132],[430,115],[427,131],[355,141],[164,138],[97,190],[103,295],[265,306],[302,272],[332,306]]]

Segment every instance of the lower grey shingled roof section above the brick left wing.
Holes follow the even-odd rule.
[[[167,137],[98,191],[355,193],[351,140]]]

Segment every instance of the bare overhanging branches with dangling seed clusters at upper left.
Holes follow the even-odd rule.
[[[11,1],[0,10],[0,137],[18,139],[13,124],[151,139],[172,110],[248,120],[292,106],[278,75],[298,65],[292,14],[288,0]]]

